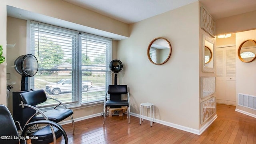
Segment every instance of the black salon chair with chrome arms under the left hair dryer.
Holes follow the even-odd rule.
[[[59,104],[55,106],[54,109],[47,110],[45,112],[42,112],[41,110],[35,107],[35,105],[41,104],[45,102],[47,99],[55,100],[59,102]],[[68,109],[59,100],[47,97],[44,90],[32,90],[32,91],[20,93],[20,102],[21,102],[20,106],[22,106],[22,108],[33,108],[34,110],[37,111],[36,114],[30,117],[28,122],[46,120],[46,118],[44,117],[45,115],[50,121],[58,123],[70,116],[73,124],[73,134],[74,134],[75,127],[74,127],[74,119],[72,117],[73,110]],[[63,106],[63,108],[57,108],[58,106]]]

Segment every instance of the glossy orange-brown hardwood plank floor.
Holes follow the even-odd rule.
[[[95,117],[64,125],[69,144],[256,144],[256,118],[235,111],[235,106],[217,104],[218,118],[199,136],[131,116]],[[58,143],[64,143],[58,138]]]

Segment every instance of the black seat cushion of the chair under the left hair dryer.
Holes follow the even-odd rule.
[[[70,115],[72,115],[74,112],[71,109],[65,109],[65,108],[58,108],[53,110],[48,110],[44,112],[44,114],[48,117],[50,121],[53,122],[60,122],[66,118],[68,118]],[[37,120],[45,120],[45,118],[42,116],[42,114],[38,114],[32,118],[32,122]]]

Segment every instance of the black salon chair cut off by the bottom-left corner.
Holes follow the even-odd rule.
[[[26,144],[26,132],[30,126],[36,125],[36,124],[47,124],[50,130],[52,130],[52,139],[49,142],[54,141],[54,144],[56,144],[56,135],[54,129],[58,129],[61,134],[64,136],[65,144],[68,144],[68,137],[65,132],[65,130],[56,122],[52,122],[49,120],[39,120],[35,122],[28,123],[24,126],[22,134],[20,136],[21,139],[19,139],[18,130],[16,129],[14,120],[12,118],[12,115],[8,108],[4,105],[0,105],[0,144]],[[37,132],[40,132],[37,131]],[[42,131],[41,131],[42,132]],[[35,132],[34,132],[35,133]],[[32,133],[31,136],[34,136]],[[36,143],[38,144],[38,143]]]

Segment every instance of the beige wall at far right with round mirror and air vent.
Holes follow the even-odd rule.
[[[245,40],[256,40],[256,30],[236,33],[236,51]],[[236,56],[236,108],[256,115],[256,111],[238,105],[238,93],[256,96],[256,60],[242,62]]]

